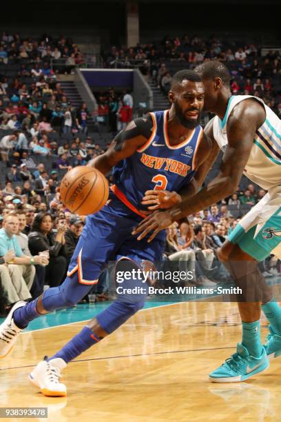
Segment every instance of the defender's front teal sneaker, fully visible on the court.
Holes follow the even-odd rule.
[[[209,381],[213,383],[238,383],[267,369],[269,359],[267,352],[262,348],[259,358],[251,356],[241,344],[237,344],[237,352],[222,365],[209,374]]]

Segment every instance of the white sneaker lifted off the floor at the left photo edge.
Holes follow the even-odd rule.
[[[21,328],[17,327],[12,319],[12,314],[18,308],[26,305],[25,301],[19,301],[14,304],[11,308],[5,321],[0,325],[0,358],[5,357],[14,346],[17,340],[17,335],[22,331]]]

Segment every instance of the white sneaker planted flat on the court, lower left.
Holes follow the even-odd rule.
[[[36,385],[45,396],[66,396],[66,386],[59,382],[61,371],[66,363],[61,358],[41,361],[28,375],[32,384]]]

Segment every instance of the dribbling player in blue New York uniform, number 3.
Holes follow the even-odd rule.
[[[132,268],[142,268],[147,261],[161,261],[165,231],[151,243],[132,236],[134,227],[146,217],[144,204],[149,205],[150,201],[145,192],[155,190],[154,206],[155,201],[156,206],[163,208],[176,205],[180,195],[192,196],[198,191],[205,179],[205,168],[209,168],[207,160],[213,160],[210,141],[198,125],[204,103],[204,87],[198,73],[176,73],[169,100],[170,110],[132,121],[116,136],[109,150],[90,163],[103,174],[113,168],[115,185],[110,200],[100,212],[87,217],[65,281],[30,303],[21,301],[14,305],[0,327],[0,356],[10,351],[17,334],[30,321],[83,298],[97,283],[107,261],[127,257]],[[59,382],[61,370],[143,308],[144,302],[145,294],[134,301],[116,299],[59,352],[41,361],[30,374],[30,381],[43,394],[64,396],[66,387]]]

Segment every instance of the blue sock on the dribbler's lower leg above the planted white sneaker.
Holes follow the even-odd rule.
[[[59,352],[48,358],[48,361],[55,358],[61,358],[68,363],[100,340],[101,339],[86,326],[79,334],[76,334],[73,339],[66,343]]]

